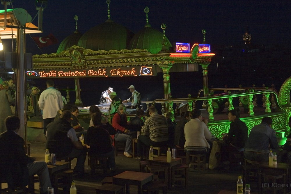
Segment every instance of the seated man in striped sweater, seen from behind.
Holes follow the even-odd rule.
[[[143,145],[152,145],[153,147],[168,146],[169,134],[166,117],[159,115],[154,106],[151,106],[148,112],[150,117],[145,120],[141,135],[137,139],[137,154],[139,157],[136,159],[143,159]]]

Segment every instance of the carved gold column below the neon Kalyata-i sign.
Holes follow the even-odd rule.
[[[159,65],[159,63],[158,63]],[[170,84],[170,68],[173,65],[168,61],[165,61],[164,64],[159,65],[159,67],[163,70],[163,78],[164,78],[164,99],[168,99],[171,95],[171,84]],[[169,111],[169,103],[165,103],[165,113]]]

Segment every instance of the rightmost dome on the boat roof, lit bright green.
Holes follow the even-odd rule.
[[[168,45],[166,46],[169,50],[172,47],[168,38]],[[148,49],[152,54],[157,54],[162,50],[163,47],[163,33],[157,31],[150,27],[149,24],[146,24],[145,27],[137,32],[129,43],[129,49]]]

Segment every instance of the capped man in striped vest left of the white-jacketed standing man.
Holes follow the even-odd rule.
[[[34,117],[34,116],[40,116],[40,108],[38,105],[39,100],[39,89],[38,87],[34,86],[31,88],[31,94],[26,96],[26,103],[27,103],[27,116]]]

